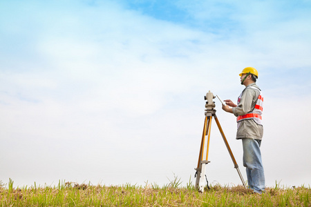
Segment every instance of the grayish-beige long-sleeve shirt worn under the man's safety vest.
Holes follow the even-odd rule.
[[[249,86],[253,86],[259,89],[256,83],[251,83]],[[245,115],[248,112],[252,112],[256,105],[260,92],[254,88],[247,86],[242,91],[241,100],[238,106],[232,108],[232,112],[236,117]],[[236,139],[263,139],[263,126],[256,124],[253,119],[246,119],[238,122],[238,131],[236,132]]]

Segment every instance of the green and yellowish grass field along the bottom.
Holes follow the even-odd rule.
[[[92,186],[59,181],[57,186],[13,188],[13,181],[1,183],[1,206],[311,206],[310,186],[267,188],[263,195],[252,194],[243,186],[210,186],[199,193],[194,185],[182,187],[173,179],[135,186]]]

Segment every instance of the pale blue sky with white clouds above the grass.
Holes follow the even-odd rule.
[[[0,1],[0,180],[195,183],[204,96],[258,70],[266,186],[311,184],[311,2]],[[236,117],[216,115],[244,179]],[[209,184],[241,185],[215,121]]]

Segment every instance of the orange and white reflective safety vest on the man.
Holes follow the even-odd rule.
[[[258,88],[253,87],[253,86],[249,86],[249,87],[256,89],[256,90],[259,90]],[[242,94],[243,94],[243,92],[238,97],[238,103],[240,103],[240,101],[241,101]],[[253,119],[257,124],[263,125],[262,118],[261,118],[262,114],[263,114],[263,95],[261,93],[261,90],[259,90],[259,96],[258,96],[258,99],[256,101],[255,108],[252,110],[252,112],[249,112],[246,115],[238,116],[236,118],[236,121],[239,122],[239,121],[243,121],[246,119]]]

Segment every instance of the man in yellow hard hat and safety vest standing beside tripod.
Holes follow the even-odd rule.
[[[244,68],[240,74],[241,84],[245,86],[238,97],[237,105],[231,100],[225,100],[223,110],[231,112],[237,117],[238,130],[236,139],[242,139],[243,165],[246,167],[247,183],[254,193],[265,190],[265,175],[261,161],[261,139],[263,139],[263,96],[256,85],[258,71],[255,68]],[[229,108],[231,106],[232,108]]]

